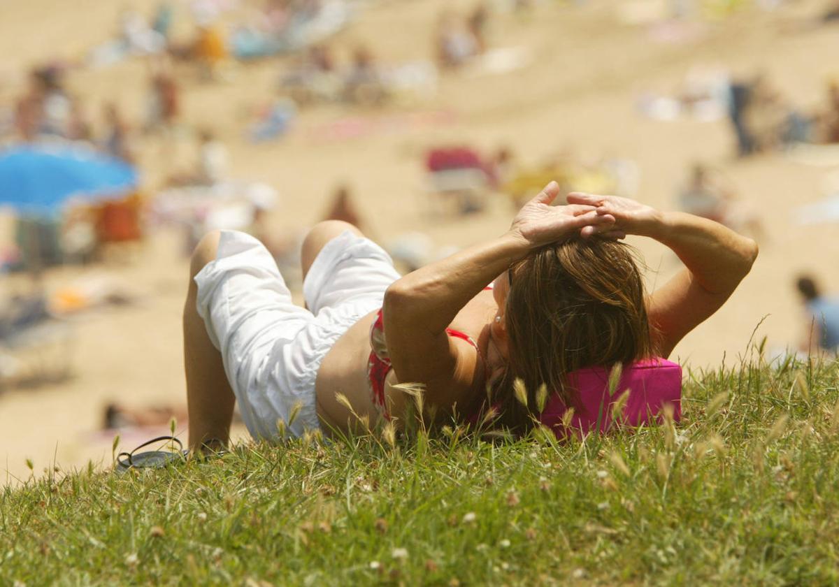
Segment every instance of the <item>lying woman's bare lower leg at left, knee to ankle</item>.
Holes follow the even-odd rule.
[[[190,264],[190,289],[184,307],[184,366],[186,371],[186,403],[189,410],[190,449],[202,444],[219,448],[227,444],[233,404],[236,397],[221,361],[221,353],[207,335],[204,320],[198,314],[198,288],[195,275],[216,259],[219,232],[211,232],[201,239]]]

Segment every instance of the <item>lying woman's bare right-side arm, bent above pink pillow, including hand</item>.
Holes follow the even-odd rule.
[[[684,212],[659,212],[628,198],[571,194],[568,201],[597,205],[615,218],[614,231],[649,236],[685,263],[685,269],[649,296],[650,324],[661,356],[669,356],[690,330],[731,296],[752,268],[758,245],[722,224]],[[587,229],[582,229],[586,235]],[[620,236],[620,235],[618,235]]]

